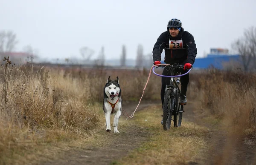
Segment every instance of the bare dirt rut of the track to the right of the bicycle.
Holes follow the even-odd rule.
[[[226,129],[218,124],[203,122],[205,115],[196,109],[196,104],[186,105],[184,118],[198,125],[209,128],[205,139],[209,146],[204,157],[197,160],[199,165],[256,165],[254,139],[246,139],[238,134],[228,134]]]

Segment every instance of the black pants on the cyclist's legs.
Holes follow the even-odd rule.
[[[183,61],[179,63],[180,65],[184,65],[186,61]],[[171,64],[172,65],[172,64]],[[188,70],[186,69],[180,69],[179,70],[181,74],[185,74]],[[168,76],[171,75],[171,70],[166,70],[166,68],[163,69],[162,75]],[[162,100],[162,108],[163,108],[163,100],[164,100],[164,94],[166,90],[166,83],[167,85],[170,84],[171,77],[162,77],[162,88],[161,88],[161,100]],[[189,74],[186,74],[184,76],[180,77],[180,83],[181,83],[181,94],[186,96],[187,87],[189,84]]]

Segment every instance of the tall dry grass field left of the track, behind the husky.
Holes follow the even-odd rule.
[[[99,127],[109,75],[119,76],[124,101],[140,99],[147,71],[17,66],[4,59],[0,69],[0,164],[26,162],[48,145],[89,139]],[[144,100],[159,96],[159,89],[154,88],[158,84],[159,77],[151,78]]]

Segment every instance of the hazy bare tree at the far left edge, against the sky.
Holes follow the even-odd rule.
[[[0,31],[0,52],[10,52],[17,45],[16,34],[12,31]]]

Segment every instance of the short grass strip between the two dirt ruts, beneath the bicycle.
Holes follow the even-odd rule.
[[[163,126],[160,125],[162,111],[159,107],[160,105],[154,106],[134,115],[137,125],[145,127],[153,136],[142,147],[112,164],[182,165],[196,162],[195,159],[203,154],[207,146],[204,140],[207,128],[183,119],[182,127],[174,128],[172,125],[169,131],[163,131]]]

